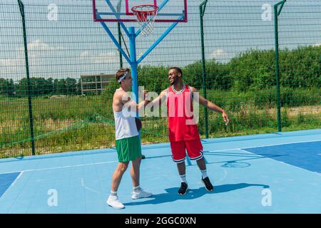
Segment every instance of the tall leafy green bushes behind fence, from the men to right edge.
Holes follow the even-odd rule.
[[[206,88],[218,90],[264,90],[276,86],[275,51],[250,50],[228,63],[206,61]],[[173,63],[175,66],[175,63]],[[178,66],[180,67],[180,66]],[[138,68],[138,84],[160,92],[168,86],[168,67]],[[203,87],[200,61],[183,68],[183,79]],[[304,46],[280,51],[280,85],[287,88],[321,88],[321,46]]]

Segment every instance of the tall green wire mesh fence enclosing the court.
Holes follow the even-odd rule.
[[[286,1],[277,17],[279,125],[277,1],[208,1],[200,17],[202,2],[188,1],[188,23],[179,24],[138,67],[138,84],[160,93],[168,87],[168,68],[182,68],[185,83],[200,95],[206,90],[230,117],[225,126],[208,111],[206,122],[200,108],[202,138],[320,128],[321,2]],[[36,155],[113,147],[113,74],[121,59],[93,22],[91,1],[23,4],[24,21],[18,1],[0,4],[0,157],[31,155],[33,140]],[[118,34],[117,24],[108,26]],[[138,55],[168,26],[156,24],[153,35],[138,38]],[[166,119],[143,118],[141,136],[143,143],[167,142]]]

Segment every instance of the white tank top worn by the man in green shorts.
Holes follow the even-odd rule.
[[[135,116],[136,113],[133,112],[113,111],[113,117],[115,118],[116,140],[138,135]]]

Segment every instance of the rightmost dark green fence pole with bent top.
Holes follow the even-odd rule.
[[[286,0],[280,1],[274,5],[274,28],[275,28],[275,74],[277,83],[277,130],[282,131],[281,124],[281,103],[280,103],[280,68],[279,68],[279,31],[278,31],[278,16],[282,11],[282,7]],[[280,6],[281,5],[281,6]],[[278,9],[280,6],[280,9]]]

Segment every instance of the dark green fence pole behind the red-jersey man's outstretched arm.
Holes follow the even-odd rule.
[[[205,8],[208,0],[203,1],[200,4],[200,43],[202,48],[202,68],[203,68],[203,96],[207,99],[206,95],[206,85],[205,85],[205,78],[206,78],[206,66],[205,66],[205,46],[204,46],[204,26],[203,26],[203,16],[205,14]],[[208,138],[208,109],[204,107],[205,113],[205,138]]]

